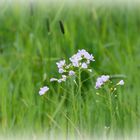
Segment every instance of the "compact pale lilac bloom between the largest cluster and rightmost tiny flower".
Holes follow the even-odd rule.
[[[102,75],[101,77],[98,77],[95,88],[96,89],[101,88],[102,85],[104,85],[104,83],[106,83],[109,80],[109,78],[110,78],[109,75]]]

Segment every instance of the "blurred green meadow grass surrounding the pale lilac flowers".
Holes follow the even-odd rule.
[[[78,49],[94,55],[92,68],[99,74],[125,77],[124,87],[117,92],[117,114],[111,121],[108,107],[96,94],[101,91],[94,89],[95,78],[83,83],[81,98],[77,98],[72,85],[67,84],[63,90],[63,84],[49,82],[59,76],[56,62],[68,60]],[[82,76],[86,75],[94,76]],[[40,97],[38,91],[43,85],[51,90]],[[70,96],[67,106],[66,95]],[[100,135],[105,127],[122,134],[139,131],[139,100],[139,8],[33,4],[0,9],[1,132],[68,130],[78,135],[80,131]]]

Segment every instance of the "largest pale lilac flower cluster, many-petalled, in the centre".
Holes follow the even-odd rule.
[[[62,74],[60,79],[51,78],[50,82],[57,81],[58,83],[66,81],[70,76],[76,75],[77,68],[87,69],[89,72],[92,72],[91,69],[88,69],[88,66],[91,61],[95,61],[92,54],[89,54],[86,50],[78,50],[76,54],[70,57],[70,63],[66,64],[65,60],[60,60],[56,63],[58,67],[58,72]]]

